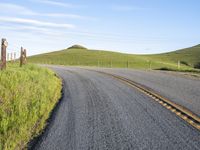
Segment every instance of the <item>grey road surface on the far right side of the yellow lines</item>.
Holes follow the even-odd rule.
[[[153,89],[200,117],[200,80],[160,71],[99,69],[120,75]]]

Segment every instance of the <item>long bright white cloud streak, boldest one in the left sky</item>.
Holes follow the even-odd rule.
[[[45,22],[34,19],[25,19],[25,18],[17,18],[17,17],[0,17],[1,22],[9,22],[9,23],[20,23],[20,24],[28,24],[33,26],[42,26],[42,27],[54,27],[54,28],[75,28],[72,24],[64,24],[64,23],[54,23],[54,22]]]

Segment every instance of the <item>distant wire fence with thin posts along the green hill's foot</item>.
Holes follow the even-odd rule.
[[[176,63],[167,63],[161,61],[149,61],[149,60],[109,60],[109,59],[99,59],[99,60],[78,60],[78,59],[53,59],[52,57],[49,58],[42,58],[39,60],[29,60],[30,62],[37,62],[43,64],[52,64],[52,65],[65,65],[65,66],[88,66],[88,67],[98,67],[98,68],[127,68],[127,69],[147,69],[147,70],[181,70],[181,69],[188,69],[188,66],[181,64],[179,61]]]

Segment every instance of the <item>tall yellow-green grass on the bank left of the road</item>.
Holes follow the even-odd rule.
[[[0,71],[0,149],[22,149],[45,127],[61,96],[61,81],[35,65]]]

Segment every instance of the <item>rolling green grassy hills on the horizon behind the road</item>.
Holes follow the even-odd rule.
[[[153,55],[89,50],[80,45],[75,45],[61,51],[29,57],[29,62],[31,63],[136,69],[177,69],[178,61],[181,64],[181,69],[192,69],[197,62],[200,62],[200,45]]]

